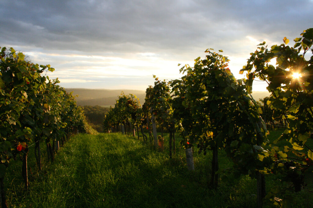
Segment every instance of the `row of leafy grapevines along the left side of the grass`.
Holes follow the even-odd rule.
[[[7,207],[3,179],[12,159],[22,158],[24,188],[28,190],[29,147],[34,147],[32,154],[40,171],[42,141],[53,162],[55,151],[70,135],[92,129],[74,97],[57,85],[58,79],[43,75],[54,68],[26,61],[24,54],[13,48],[3,47],[0,59],[0,187],[1,207]]]

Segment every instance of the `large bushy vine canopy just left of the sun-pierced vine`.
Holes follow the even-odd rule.
[[[259,159],[266,152],[261,145],[267,134],[259,116],[261,109],[245,91],[242,80],[230,72],[228,57],[209,49],[206,52],[206,58],[195,59],[193,67],[182,67],[181,72],[187,74],[172,82],[172,108],[185,138],[183,145],[197,145],[204,153],[215,146],[223,148],[238,175],[253,175],[268,162]]]

